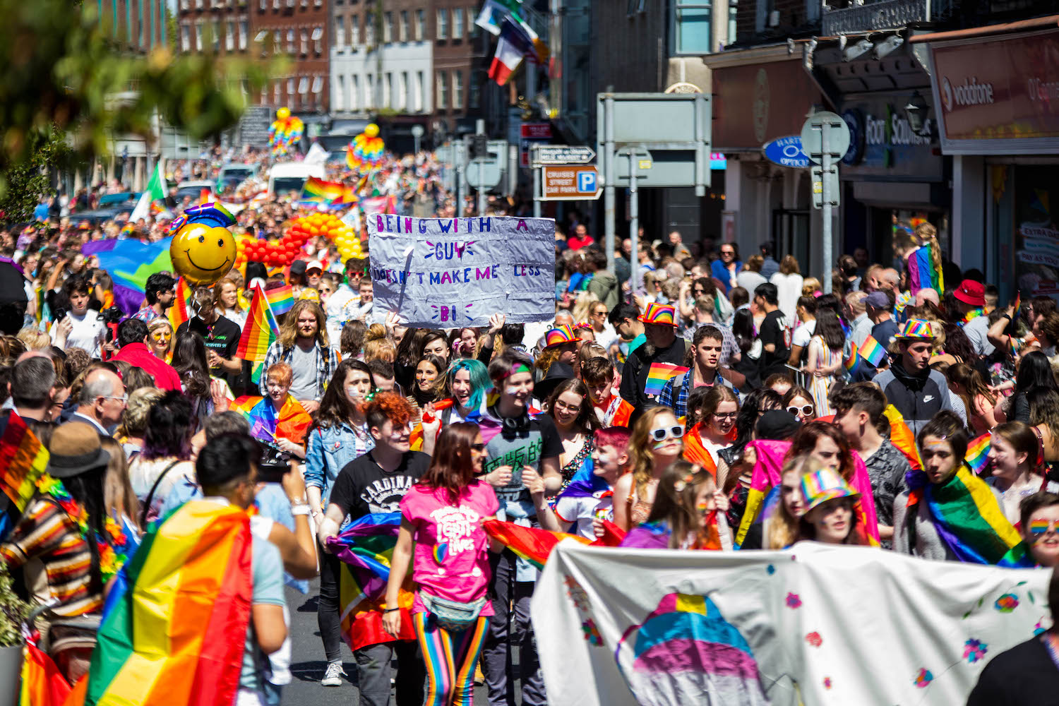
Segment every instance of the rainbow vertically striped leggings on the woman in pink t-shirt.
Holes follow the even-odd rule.
[[[457,633],[438,628],[430,613],[416,613],[413,620],[429,680],[424,706],[472,704],[474,665],[482,653],[489,619],[479,616],[474,624]]]

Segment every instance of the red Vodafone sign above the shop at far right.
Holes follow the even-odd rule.
[[[1059,149],[1059,30],[930,42],[947,155]]]

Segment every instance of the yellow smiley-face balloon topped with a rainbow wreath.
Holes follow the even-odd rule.
[[[235,218],[220,203],[202,203],[184,211],[169,223],[169,259],[187,283],[207,286],[217,282],[235,264],[235,238],[228,229]]]

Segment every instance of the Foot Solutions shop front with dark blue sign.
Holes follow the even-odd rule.
[[[932,138],[933,120],[913,127],[905,107],[915,91],[848,94],[840,113],[849,126],[849,150],[839,167],[843,247],[863,249],[872,263],[891,263],[894,242],[922,222],[951,251],[946,160]]]

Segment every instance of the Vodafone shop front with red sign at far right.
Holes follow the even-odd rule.
[[[1001,301],[1059,298],[1059,17],[1048,29],[915,37],[928,44],[941,149],[953,156],[953,260]]]

